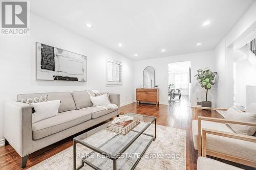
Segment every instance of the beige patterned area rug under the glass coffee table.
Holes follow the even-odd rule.
[[[146,130],[148,134],[154,134],[154,125],[151,125]],[[132,145],[131,145],[132,146]],[[77,144],[77,153],[86,155],[91,152],[90,149]],[[141,144],[135,147],[136,149],[143,148]],[[129,156],[128,156],[129,157]],[[107,159],[107,158],[106,158]],[[120,159],[120,158],[119,158]],[[119,170],[129,169],[128,166],[132,160],[117,160]],[[113,161],[108,163],[108,167],[104,169],[112,169]],[[81,164],[81,159],[77,158],[77,167]],[[127,168],[128,167],[128,168]],[[152,141],[150,147],[146,150],[140,162],[135,169],[172,169],[185,170],[186,168],[186,131],[175,129],[172,127],[164,127],[157,125],[157,138]],[[70,147],[60,153],[32,166],[29,169],[73,169],[73,147]],[[93,169],[88,165],[84,165],[81,169]],[[103,170],[103,168],[102,168]]]

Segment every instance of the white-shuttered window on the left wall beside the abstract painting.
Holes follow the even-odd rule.
[[[106,59],[106,86],[122,85],[122,63]]]

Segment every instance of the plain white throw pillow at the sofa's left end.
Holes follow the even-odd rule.
[[[59,105],[60,100],[31,103],[31,106],[35,109],[35,113],[32,113],[32,123],[56,116],[58,114]]]

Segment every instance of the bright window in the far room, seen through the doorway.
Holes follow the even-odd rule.
[[[188,73],[175,73],[174,74],[174,86],[175,88],[188,89]]]

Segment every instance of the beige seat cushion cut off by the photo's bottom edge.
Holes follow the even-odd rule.
[[[197,170],[242,170],[241,168],[206,157],[198,157]]]

